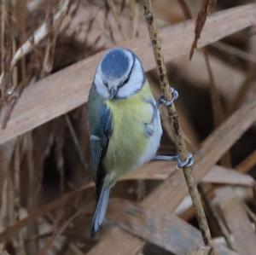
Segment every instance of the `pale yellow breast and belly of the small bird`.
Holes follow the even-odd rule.
[[[144,128],[152,118],[152,106],[147,98],[153,98],[148,82],[135,96],[106,102],[112,113],[113,133],[103,164],[111,183],[125,172],[137,168],[147,147]]]

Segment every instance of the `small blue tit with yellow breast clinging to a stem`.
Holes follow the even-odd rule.
[[[96,68],[88,100],[96,211],[91,235],[101,229],[110,189],[129,171],[154,159],[160,113],[142,63],[131,50],[110,49]]]

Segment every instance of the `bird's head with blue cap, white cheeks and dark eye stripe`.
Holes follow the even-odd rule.
[[[96,69],[94,86],[104,98],[122,99],[143,88],[145,75],[137,55],[131,50],[110,49]]]

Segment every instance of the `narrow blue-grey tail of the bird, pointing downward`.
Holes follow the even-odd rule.
[[[110,188],[103,185],[99,199],[97,200],[96,211],[91,222],[90,236],[94,237],[101,230],[103,220],[105,218]]]

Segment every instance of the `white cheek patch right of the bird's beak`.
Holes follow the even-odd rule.
[[[119,88],[117,97],[125,98],[133,96],[137,91],[141,90],[144,82],[144,72],[141,63],[135,59],[134,67],[131,71],[131,76],[127,84]]]

